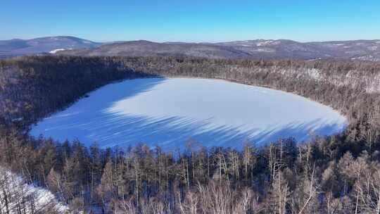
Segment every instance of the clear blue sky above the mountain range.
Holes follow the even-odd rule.
[[[380,0],[3,0],[0,39],[380,39]]]

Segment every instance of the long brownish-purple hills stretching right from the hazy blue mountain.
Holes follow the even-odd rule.
[[[104,44],[95,49],[60,51],[75,56],[195,56],[206,58],[341,58],[380,61],[380,40],[295,42],[247,40],[220,43],[148,42]]]

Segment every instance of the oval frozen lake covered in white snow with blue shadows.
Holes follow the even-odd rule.
[[[144,143],[165,150],[187,142],[230,146],[334,134],[346,118],[302,96],[223,80],[152,78],[108,84],[45,118],[31,134],[101,147]]]

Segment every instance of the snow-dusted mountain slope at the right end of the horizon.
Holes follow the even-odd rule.
[[[357,40],[338,42],[295,42],[292,40],[248,40],[218,43],[246,51],[253,56],[274,58],[345,58],[380,60],[380,40]]]

